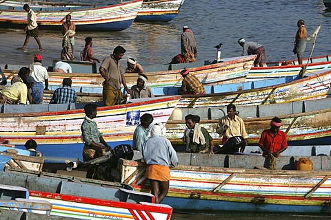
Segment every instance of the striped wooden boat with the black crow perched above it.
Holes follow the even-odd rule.
[[[240,56],[224,58],[221,63],[210,64],[209,61],[197,61],[195,63],[181,63],[170,65],[152,65],[143,67],[148,76],[150,87],[165,87],[181,85],[180,71],[183,68],[190,69],[201,80],[204,85],[219,85],[224,83],[243,82],[252,66],[254,56]],[[86,63],[86,62],[85,62]],[[10,85],[11,78],[17,74],[18,69],[2,69]],[[100,74],[61,74],[55,72],[48,73],[49,86],[51,90],[57,89],[61,85],[63,78],[72,79],[72,87],[76,91],[85,93],[102,93],[103,78]],[[137,74],[125,74],[128,87],[137,84]]]

